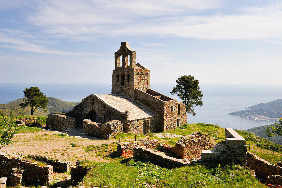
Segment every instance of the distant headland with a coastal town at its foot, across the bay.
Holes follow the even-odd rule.
[[[259,103],[246,109],[229,114],[258,121],[277,121],[277,118],[282,117],[282,99]]]

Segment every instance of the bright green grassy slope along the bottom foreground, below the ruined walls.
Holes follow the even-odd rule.
[[[234,173],[231,177],[229,174]],[[90,187],[108,186],[114,187],[263,187],[248,168],[239,165],[203,166],[194,165],[175,169],[157,167],[151,163],[134,162],[130,160],[126,164],[117,162],[94,163],[88,177],[83,183]],[[135,180],[135,179],[139,180]]]

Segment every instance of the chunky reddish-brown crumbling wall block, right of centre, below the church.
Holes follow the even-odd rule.
[[[182,159],[191,159],[202,153],[202,150],[209,149],[211,144],[210,137],[207,134],[192,133],[178,140],[175,146],[175,153]]]

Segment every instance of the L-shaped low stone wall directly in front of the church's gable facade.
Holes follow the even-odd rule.
[[[82,134],[94,136],[98,138],[110,139],[118,133],[122,133],[123,125],[119,120],[112,120],[105,123],[92,122],[83,120]]]

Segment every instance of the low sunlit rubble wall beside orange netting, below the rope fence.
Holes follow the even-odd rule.
[[[133,149],[139,145],[139,146],[145,146],[146,148],[156,148],[156,146],[158,145],[158,141],[157,140],[153,140],[153,139],[140,139],[140,141],[136,141],[136,142],[120,142],[118,143],[118,146],[116,148],[116,152],[119,153],[120,155],[122,155],[122,153],[124,151],[128,151],[128,152],[133,152]]]

